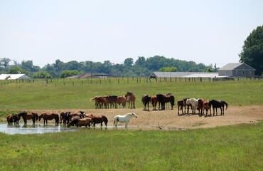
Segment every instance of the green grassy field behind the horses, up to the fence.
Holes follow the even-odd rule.
[[[33,83],[1,81],[1,110],[45,110],[94,108],[95,95],[136,95],[136,108],[142,108],[141,95],[173,93],[179,98],[195,97],[225,100],[230,105],[262,105],[263,80],[250,81],[176,81],[146,78],[112,78],[91,80],[36,80]]]

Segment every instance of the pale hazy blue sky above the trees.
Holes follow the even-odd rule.
[[[0,0],[0,58],[45,66],[164,56],[239,62],[262,0]]]

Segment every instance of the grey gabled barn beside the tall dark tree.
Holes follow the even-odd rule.
[[[218,69],[218,76],[254,78],[255,69],[246,63],[228,63]]]

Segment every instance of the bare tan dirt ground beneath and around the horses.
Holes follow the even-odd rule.
[[[171,110],[152,110],[145,111],[142,108],[138,109],[80,109],[86,113],[92,113],[93,115],[106,115],[109,123],[113,124],[114,115],[124,115],[126,113],[136,113],[138,118],[132,118],[129,121],[128,127],[137,128],[159,128],[159,125],[163,129],[185,130],[195,128],[213,128],[220,125],[234,125],[239,123],[255,123],[258,120],[263,120],[263,106],[228,106],[225,110],[225,115],[220,115],[218,110],[218,116],[199,116],[198,114],[177,114],[177,108]],[[49,112],[59,113],[61,110],[53,110]],[[69,110],[77,111],[77,110]],[[41,113],[43,111],[36,111]],[[45,111],[48,112],[48,111]],[[213,110],[212,110],[213,113]],[[119,125],[124,125],[119,124]],[[97,126],[97,125],[96,125]]]

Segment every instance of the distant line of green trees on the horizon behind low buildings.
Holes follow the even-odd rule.
[[[117,77],[147,77],[154,71],[180,71],[180,72],[213,72],[212,65],[205,66],[203,63],[194,61],[182,61],[164,56],[153,56],[145,58],[139,56],[134,62],[133,58],[126,58],[123,64],[111,61],[69,61],[64,63],[57,59],[55,63],[48,63],[43,68],[34,66],[33,61],[22,61],[18,63],[11,59],[0,59],[0,73],[24,73],[31,78],[66,78],[81,73],[106,73]]]

